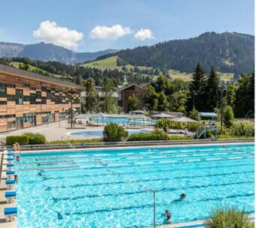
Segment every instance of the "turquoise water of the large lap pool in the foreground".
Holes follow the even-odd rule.
[[[19,227],[151,226],[149,189],[158,225],[166,208],[173,222],[221,206],[254,212],[254,145],[22,154],[16,169]]]

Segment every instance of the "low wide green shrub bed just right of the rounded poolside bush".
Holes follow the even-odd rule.
[[[154,130],[151,133],[133,133],[128,141],[150,141],[150,140],[169,140],[167,133],[162,130]]]

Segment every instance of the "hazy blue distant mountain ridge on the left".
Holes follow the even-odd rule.
[[[39,61],[57,61],[66,64],[75,64],[96,59],[100,55],[114,53],[117,50],[106,49],[99,52],[74,52],[52,43],[5,43],[0,42],[0,57],[26,57]]]

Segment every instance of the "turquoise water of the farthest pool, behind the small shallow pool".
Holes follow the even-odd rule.
[[[93,117],[92,119],[95,122],[99,122],[103,124],[109,124],[109,123],[127,124],[128,123],[128,118],[126,117]],[[144,121],[136,119],[136,120],[130,120],[129,123],[133,125],[143,125],[143,124],[154,125],[157,123],[157,121],[154,119],[144,120]]]

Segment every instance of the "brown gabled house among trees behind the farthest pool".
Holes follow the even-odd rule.
[[[117,90],[119,95],[118,106],[122,107],[124,111],[128,110],[128,99],[130,96],[136,95],[139,100],[139,110],[144,110],[144,97],[146,90],[142,86],[131,84]]]

